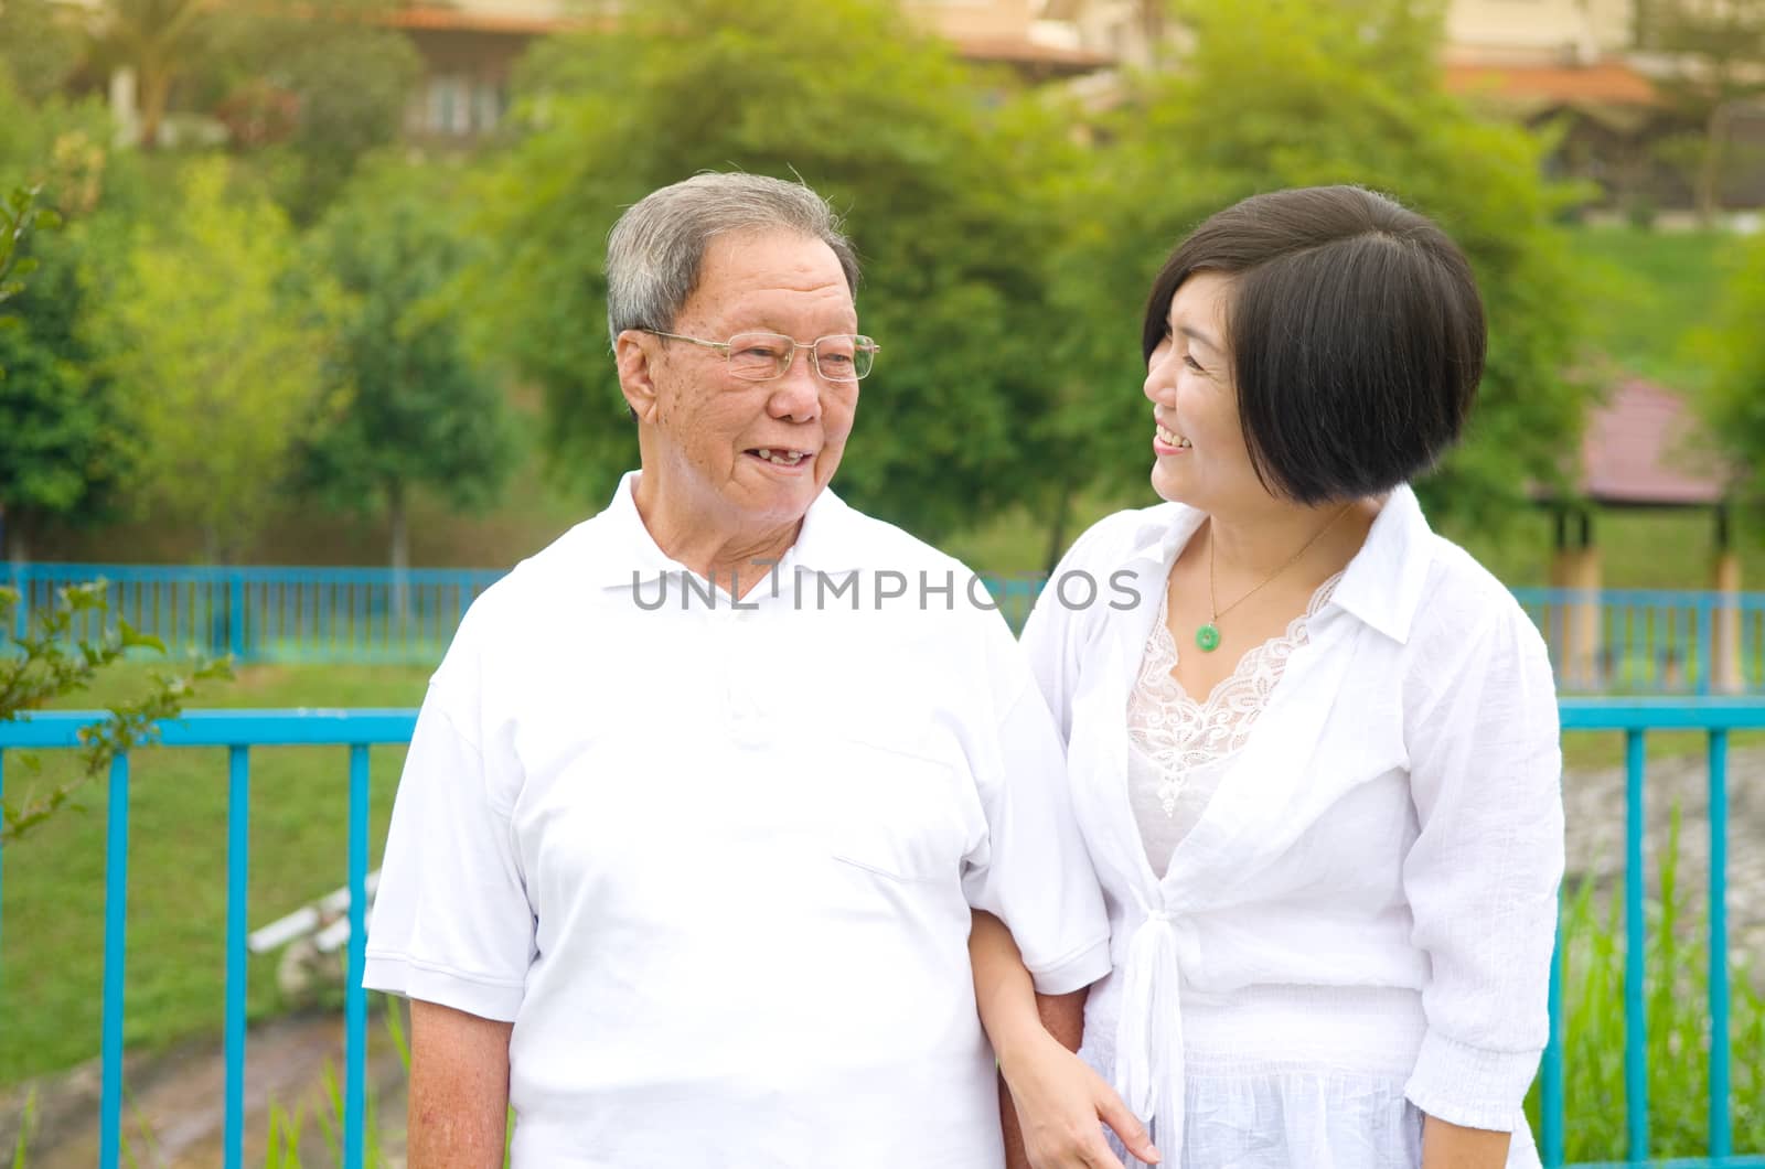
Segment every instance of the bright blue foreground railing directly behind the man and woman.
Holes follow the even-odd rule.
[[[1649,731],[1703,731],[1709,736],[1710,791],[1710,968],[1709,968],[1709,1160],[1673,1165],[1765,1167],[1765,1155],[1733,1157],[1733,1098],[1730,1088],[1731,1038],[1728,1022],[1728,736],[1765,729],[1765,699],[1562,699],[1566,733],[1619,731],[1626,735],[1627,816],[1624,871],[1624,1082],[1629,1162],[1649,1164],[1647,1010],[1643,999],[1643,795],[1645,735]],[[7,749],[65,749],[79,745],[79,729],[101,715],[90,712],[35,713],[0,722],[0,777]],[[365,994],[364,908],[367,881],[369,766],[374,743],[406,743],[417,722],[411,710],[330,712],[187,712],[162,726],[168,747],[226,747],[228,768],[228,915],[226,915],[226,1164],[244,1162],[245,1072],[245,888],[249,874],[247,825],[251,814],[251,749],[270,745],[342,745],[349,750],[348,883],[349,957],[344,999],[344,1164],[360,1169],[365,1112]],[[4,874],[4,869],[0,869]],[[124,936],[129,894],[129,758],[109,773],[109,812],[104,871],[104,1012],[101,1086],[101,1165],[113,1169],[122,1132],[122,1022]],[[1541,1153],[1546,1165],[1564,1164],[1564,1024],[1562,945],[1550,978],[1550,1044],[1541,1067]]]

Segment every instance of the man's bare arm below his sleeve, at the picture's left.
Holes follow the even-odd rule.
[[[409,1169],[501,1169],[514,1026],[411,999]]]

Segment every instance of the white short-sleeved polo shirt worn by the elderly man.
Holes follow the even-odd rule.
[[[515,1024],[517,1165],[999,1165],[969,908],[1045,994],[1110,966],[1010,630],[830,491],[734,607],[634,484],[431,680],[365,984]]]

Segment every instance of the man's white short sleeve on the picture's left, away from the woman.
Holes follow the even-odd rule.
[[[367,934],[364,985],[512,1022],[535,957],[510,809],[432,683],[417,719]]]

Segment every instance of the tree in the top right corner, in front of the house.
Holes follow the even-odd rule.
[[[1765,94],[1765,0],[1638,0],[1636,34],[1671,62],[1661,88],[1698,127],[1671,140],[1668,154],[1689,162],[1698,215],[1710,222],[1728,173],[1730,118]]]

